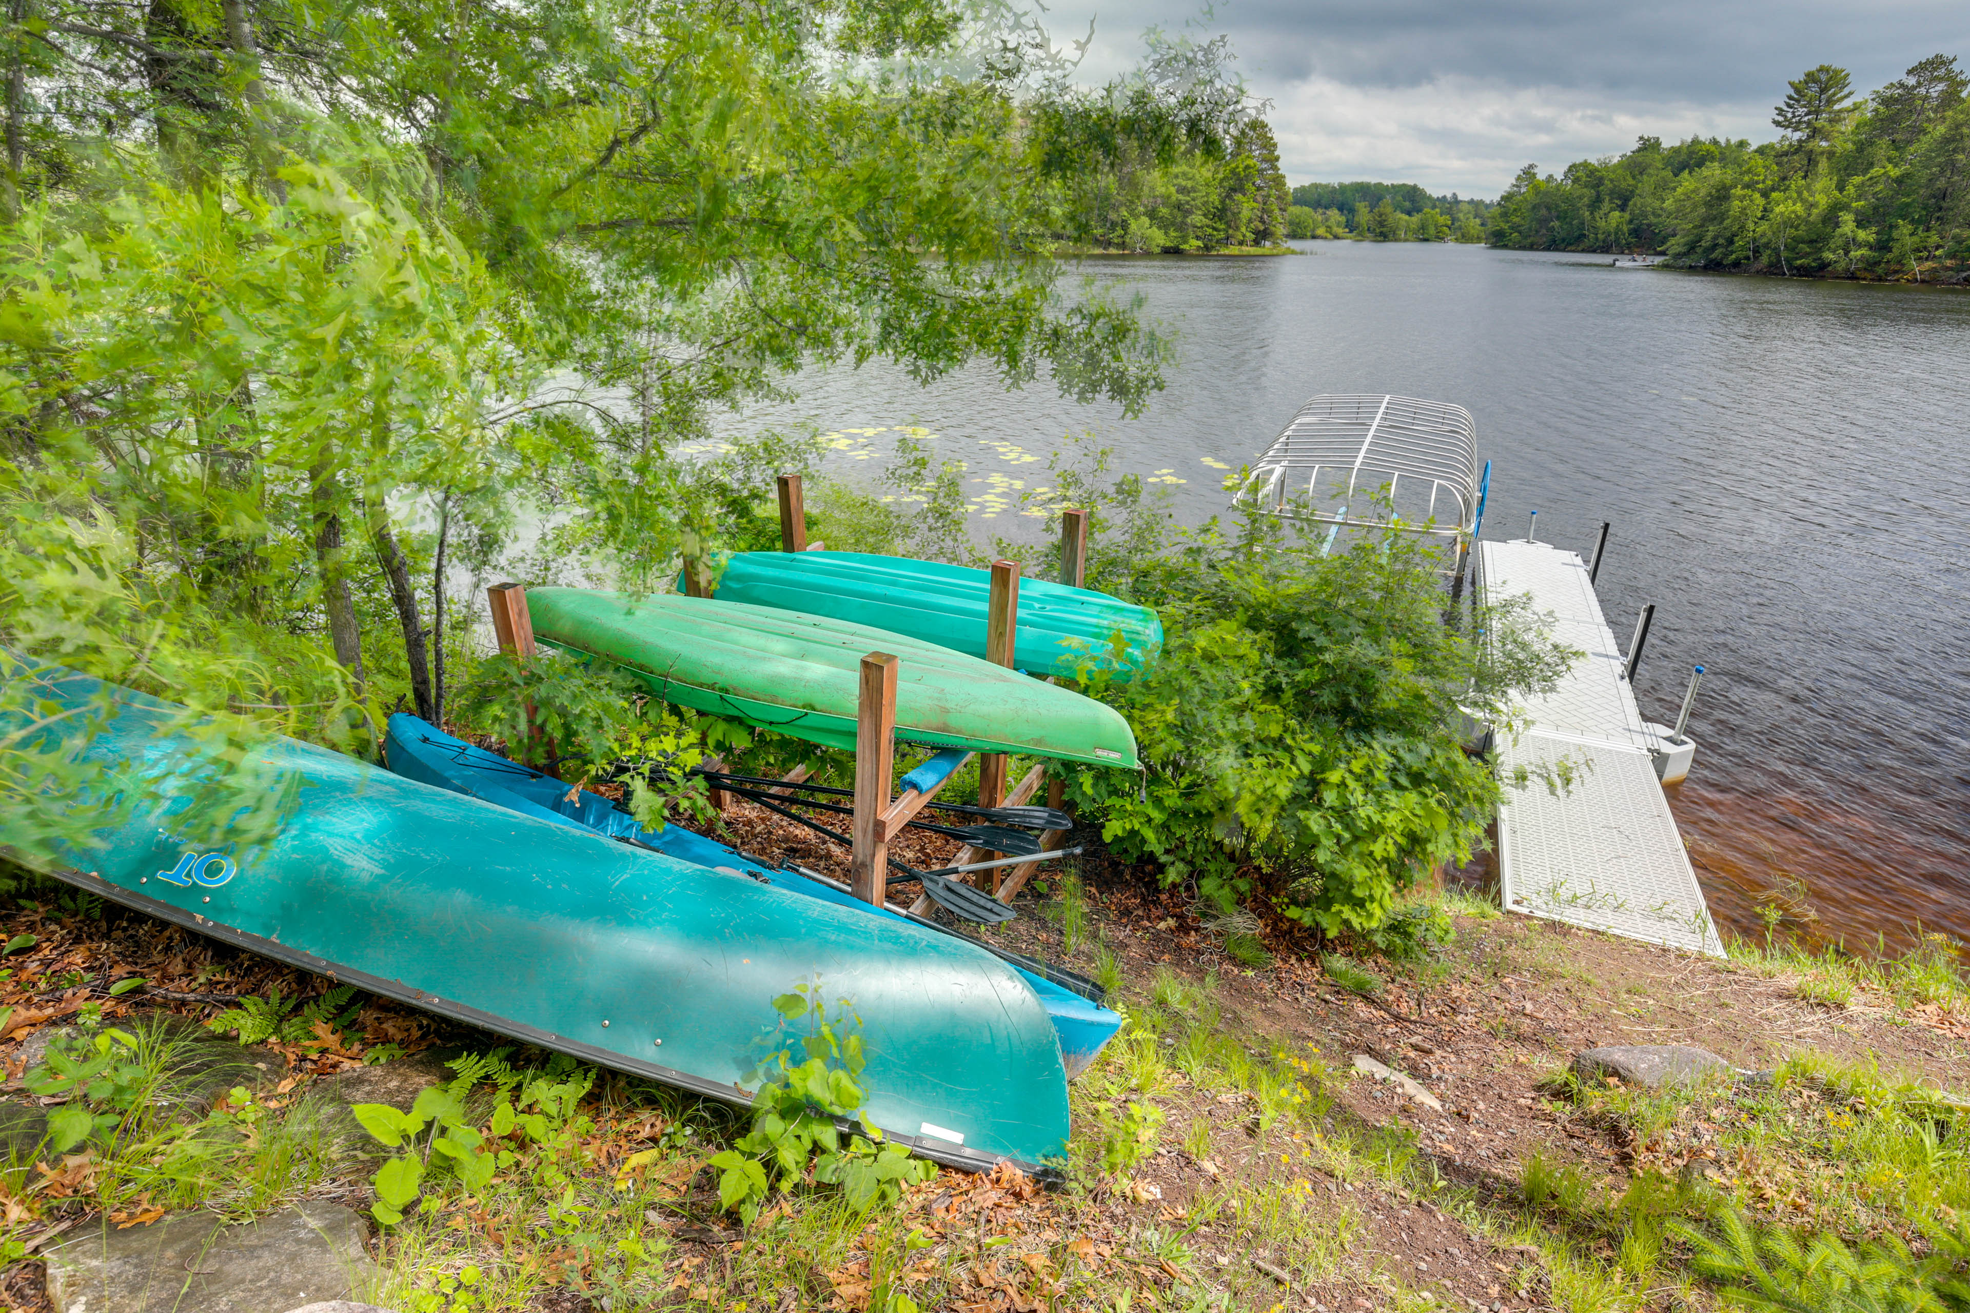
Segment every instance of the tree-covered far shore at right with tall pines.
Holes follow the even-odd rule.
[[[1645,136],[1617,159],[1539,175],[1491,211],[1519,250],[1661,252],[1694,268],[1850,278],[1970,278],[1970,100],[1933,55],[1854,100],[1848,71],[1789,83],[1777,142]]]

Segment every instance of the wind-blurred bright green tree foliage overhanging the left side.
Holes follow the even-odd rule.
[[[264,734],[364,750],[398,699],[443,724],[451,567],[526,533],[516,575],[636,589],[764,545],[762,474],[812,441],[691,447],[806,364],[1046,372],[1139,413],[1168,346],[1056,287],[1062,189],[1221,154],[1245,116],[1221,45],[1082,93],[995,6],[33,8],[0,219],[0,803],[41,866],[110,823],[75,799],[154,795],[85,760],[102,709],[53,711],[24,656],[185,703],[217,770],[181,776],[232,789],[199,815],[246,841],[292,801],[252,778]],[[487,679],[508,724],[552,701]]]

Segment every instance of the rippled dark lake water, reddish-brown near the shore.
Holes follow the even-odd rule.
[[[1751,933],[1779,896],[1828,939],[1970,941],[1970,291],[1300,246],[1082,266],[1178,335],[1139,419],[871,366],[808,374],[745,423],[812,417],[841,433],[841,472],[920,425],[969,463],[981,530],[1036,537],[1015,502],[1068,433],[1172,480],[1196,522],[1223,510],[1217,467],[1308,396],[1456,402],[1493,461],[1485,537],[1523,537],[1537,508],[1543,541],[1588,555],[1613,522],[1600,594],[1623,644],[1657,604],[1643,711],[1673,720],[1708,669],[1671,795],[1718,919]]]

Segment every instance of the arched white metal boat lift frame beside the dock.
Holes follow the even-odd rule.
[[[1411,492],[1414,488],[1414,492]],[[1288,520],[1476,535],[1478,423],[1462,406],[1407,396],[1322,394],[1253,461],[1233,498]],[[1338,510],[1326,510],[1336,504]],[[1420,508],[1407,514],[1405,508]]]

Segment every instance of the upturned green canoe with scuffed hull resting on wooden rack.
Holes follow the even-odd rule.
[[[861,659],[900,657],[896,738],[971,752],[1026,752],[1093,766],[1135,760],[1111,707],[902,634],[772,606],[680,596],[528,589],[534,636],[615,661],[666,703],[855,750]]]

